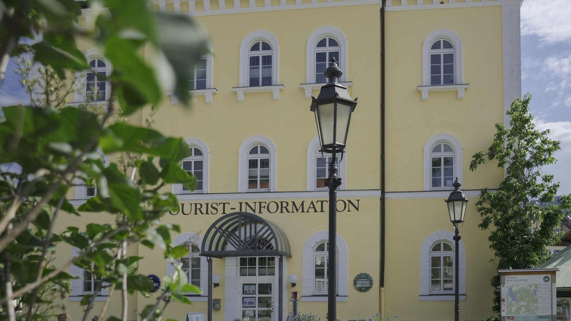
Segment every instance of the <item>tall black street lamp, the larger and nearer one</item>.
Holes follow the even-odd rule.
[[[351,113],[355,110],[357,99],[353,100],[347,87],[341,86],[337,81],[343,74],[335,58],[331,58],[329,67],[323,73],[329,79],[327,85],[321,87],[317,98],[311,97],[311,111],[315,113],[317,133],[321,143],[322,153],[331,153],[329,162],[329,175],[325,179],[325,186],[329,187],[329,263],[327,269],[328,292],[327,314],[329,320],[335,320],[337,315],[337,274],[336,248],[337,248],[337,187],[341,185],[341,178],[337,177],[337,154],[343,156]]]

